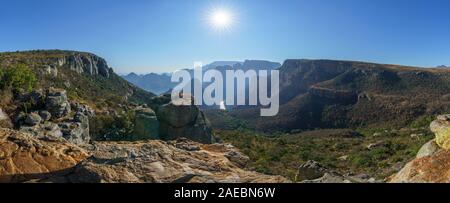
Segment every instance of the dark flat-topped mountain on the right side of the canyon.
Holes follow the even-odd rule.
[[[401,126],[450,111],[450,71],[335,60],[287,60],[280,70],[280,111],[233,110],[232,120],[261,131]],[[224,127],[217,112],[213,126]],[[230,120],[231,118],[227,118]],[[218,122],[215,122],[218,121]]]

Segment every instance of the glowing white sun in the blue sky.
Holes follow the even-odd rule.
[[[226,9],[213,9],[209,14],[209,23],[217,31],[229,30],[234,23],[234,15]]]

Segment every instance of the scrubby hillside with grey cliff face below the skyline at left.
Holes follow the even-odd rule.
[[[101,110],[127,102],[145,103],[154,96],[114,73],[107,62],[76,51],[26,51],[0,53],[0,68],[24,64],[37,76],[36,89],[66,89],[69,99]]]

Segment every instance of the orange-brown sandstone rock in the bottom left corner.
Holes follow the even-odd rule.
[[[64,174],[88,154],[64,140],[41,140],[0,129],[0,182],[23,182]]]

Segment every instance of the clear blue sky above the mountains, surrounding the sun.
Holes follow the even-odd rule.
[[[233,14],[228,30],[208,21]],[[345,59],[450,65],[448,0],[1,0],[0,51],[96,53],[116,72],[194,61]]]

